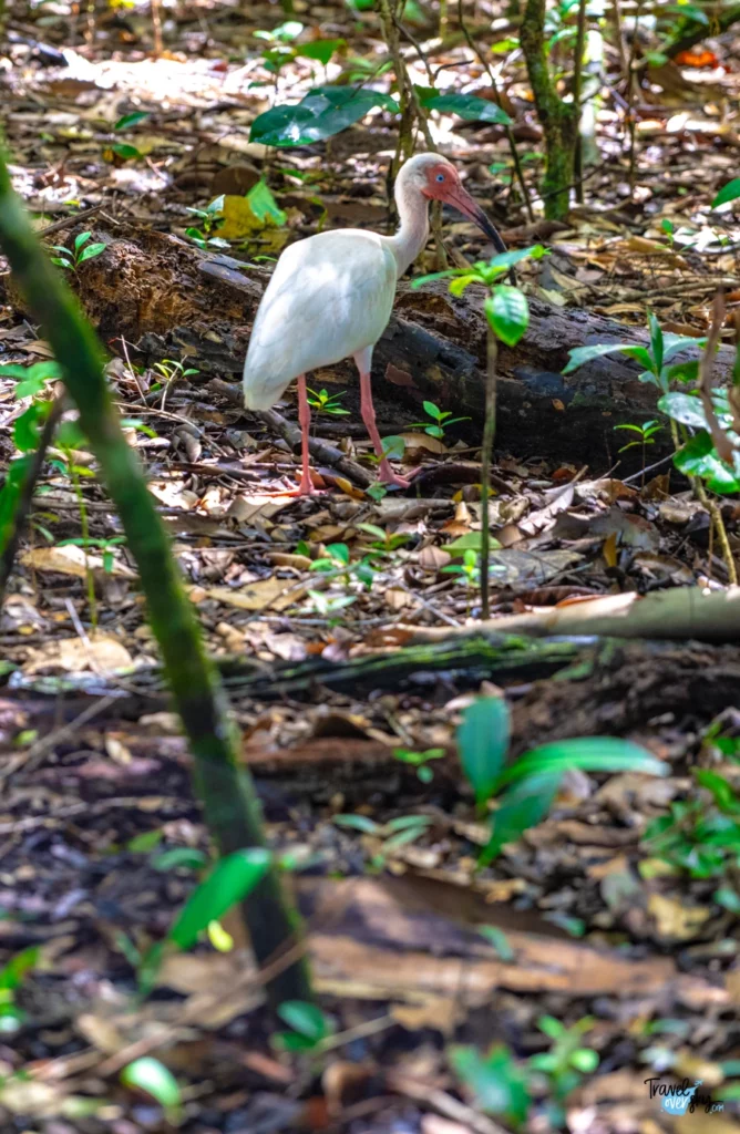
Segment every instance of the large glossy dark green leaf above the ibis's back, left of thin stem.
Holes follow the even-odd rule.
[[[317,86],[301,102],[272,107],[252,122],[250,142],[264,145],[310,145],[330,138],[372,110],[397,111],[397,103],[380,91],[354,86]]]

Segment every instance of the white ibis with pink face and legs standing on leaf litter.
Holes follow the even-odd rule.
[[[506,247],[482,209],[462,187],[457,170],[437,153],[420,153],[401,169],[395,185],[401,226],[395,236],[360,228],[319,232],[289,245],[260,303],[244,363],[247,409],[269,409],[297,379],[303,473],[297,494],[313,491],[309,469],[311,412],[305,374],[350,355],[360,371],[362,420],[380,462],[380,480],[407,488],[393,472],[376,425],[370,388],[372,348],[390,319],[396,281],[429,236],[429,201],[454,205]]]

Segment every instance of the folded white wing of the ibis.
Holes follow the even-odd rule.
[[[375,232],[323,232],[287,248],[254,320],[244,364],[246,406],[267,409],[298,374],[377,342],[395,289],[395,259]]]

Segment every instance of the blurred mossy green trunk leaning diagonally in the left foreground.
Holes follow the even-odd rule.
[[[169,540],[143,471],[127,445],[106,383],[102,354],[72,293],[42,252],[0,158],[0,247],[59,362],[79,423],[116,505],[146,596],[175,705],[194,758],[195,789],[221,854],[264,846],[259,801],[239,767],[238,737],[217,670],[209,661]],[[243,905],[260,964],[291,948],[296,917],[271,870]],[[268,985],[272,1006],[311,996],[304,962]]]

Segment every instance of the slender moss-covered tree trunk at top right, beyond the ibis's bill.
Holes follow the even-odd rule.
[[[546,0],[527,0],[520,41],[537,117],[545,133],[543,200],[547,220],[562,220],[570,208],[578,108],[560,98],[547,60],[545,43]]]

